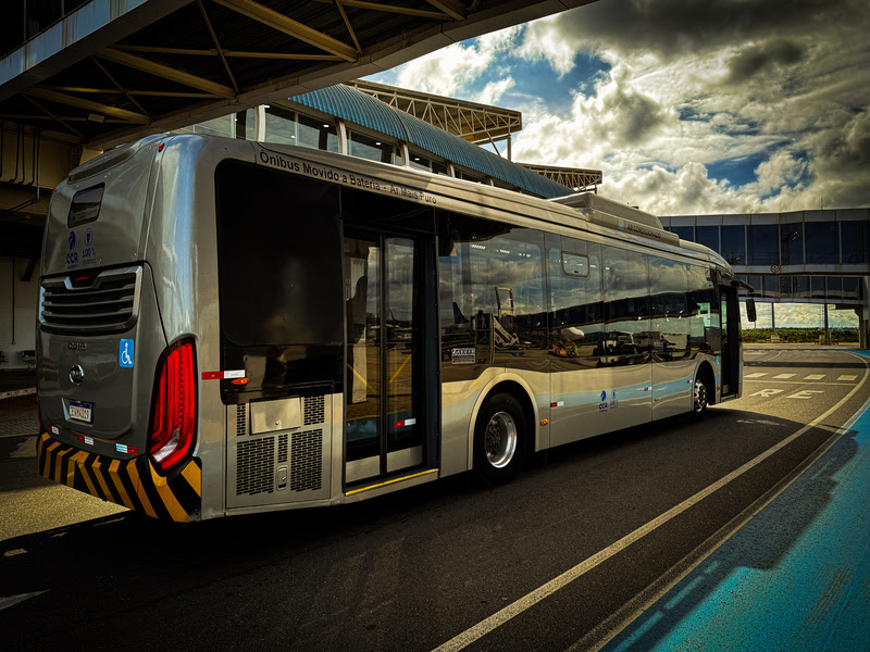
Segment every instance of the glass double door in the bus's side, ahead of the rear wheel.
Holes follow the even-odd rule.
[[[347,482],[424,462],[421,246],[347,228]]]

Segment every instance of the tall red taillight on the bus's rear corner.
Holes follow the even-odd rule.
[[[194,340],[181,340],[162,355],[151,412],[148,452],[163,471],[194,448],[197,426],[197,385]]]

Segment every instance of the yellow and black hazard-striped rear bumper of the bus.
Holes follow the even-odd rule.
[[[42,434],[36,450],[44,477],[161,521],[198,521],[202,506],[202,467],[192,457],[169,476],[150,457],[113,460],[83,451]]]

